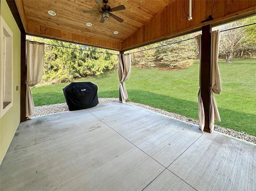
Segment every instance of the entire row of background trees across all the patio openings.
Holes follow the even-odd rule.
[[[251,23],[256,23],[256,16],[218,26],[212,30],[222,31]],[[131,50],[130,52],[140,51],[132,54],[132,65],[140,68],[183,69],[199,57],[198,45],[194,39],[198,34],[200,32]],[[226,59],[227,63],[231,63],[232,58],[256,57],[256,25],[227,30],[220,36],[219,57]],[[41,85],[70,82],[117,68],[117,56],[113,55],[113,53],[117,54],[117,51],[32,36],[27,36],[27,39],[50,44],[45,45]],[[180,42],[176,43],[178,41]]]

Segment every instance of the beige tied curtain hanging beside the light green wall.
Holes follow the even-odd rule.
[[[27,40],[26,116],[31,119],[35,112],[30,87],[38,84],[43,75],[44,43]]]

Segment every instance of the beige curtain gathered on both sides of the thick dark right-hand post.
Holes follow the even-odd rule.
[[[201,60],[201,35],[195,37],[199,47],[199,58]],[[218,69],[218,54],[219,54],[219,42],[220,42],[220,31],[213,31],[211,35],[211,84],[210,84],[210,133],[214,130],[214,120],[220,121],[220,114],[216,101],[214,99],[215,94],[220,94],[220,73]],[[201,70],[201,61],[200,61]],[[204,131],[204,105],[201,97],[201,79],[199,77],[199,91],[198,91],[198,114],[199,114],[199,128]]]

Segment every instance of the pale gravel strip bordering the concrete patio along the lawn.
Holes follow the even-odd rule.
[[[109,104],[109,103],[114,103],[114,102],[118,102],[118,99],[116,98],[99,98],[99,104],[98,105],[104,105],[104,104]],[[194,120],[194,119],[190,119],[187,118],[185,116],[181,116],[179,114],[176,113],[172,113],[172,112],[167,112],[165,110],[162,109],[158,109],[158,108],[154,108],[148,105],[144,105],[144,104],[139,104],[139,103],[134,103],[134,102],[128,102],[131,105],[135,105],[144,109],[148,109],[160,114],[164,114],[166,116],[170,116],[182,121],[186,121],[195,125],[199,125],[198,120]],[[46,115],[46,114],[53,114],[53,113],[58,113],[58,112],[64,112],[64,111],[68,111],[68,106],[66,103],[61,103],[61,104],[53,104],[53,105],[45,105],[45,106],[37,106],[35,107],[35,113],[33,114],[33,116],[42,116],[42,115]],[[248,142],[252,142],[254,144],[256,144],[256,137],[246,134],[244,132],[240,132],[240,131],[235,131],[232,129],[228,129],[228,128],[224,128],[218,125],[215,125],[214,130],[223,134],[227,134],[229,136],[238,138],[238,139],[242,139],[242,140],[246,140]]]

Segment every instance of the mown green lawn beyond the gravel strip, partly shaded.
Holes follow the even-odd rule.
[[[219,61],[222,93],[215,95],[222,122],[216,124],[256,135],[256,60],[233,59],[232,64]],[[192,66],[178,71],[138,69],[132,67],[126,82],[129,99],[190,118],[198,118],[198,69]],[[80,79],[98,86],[100,98],[118,98],[117,71]],[[36,106],[63,103],[62,92],[68,83],[33,87]]]

